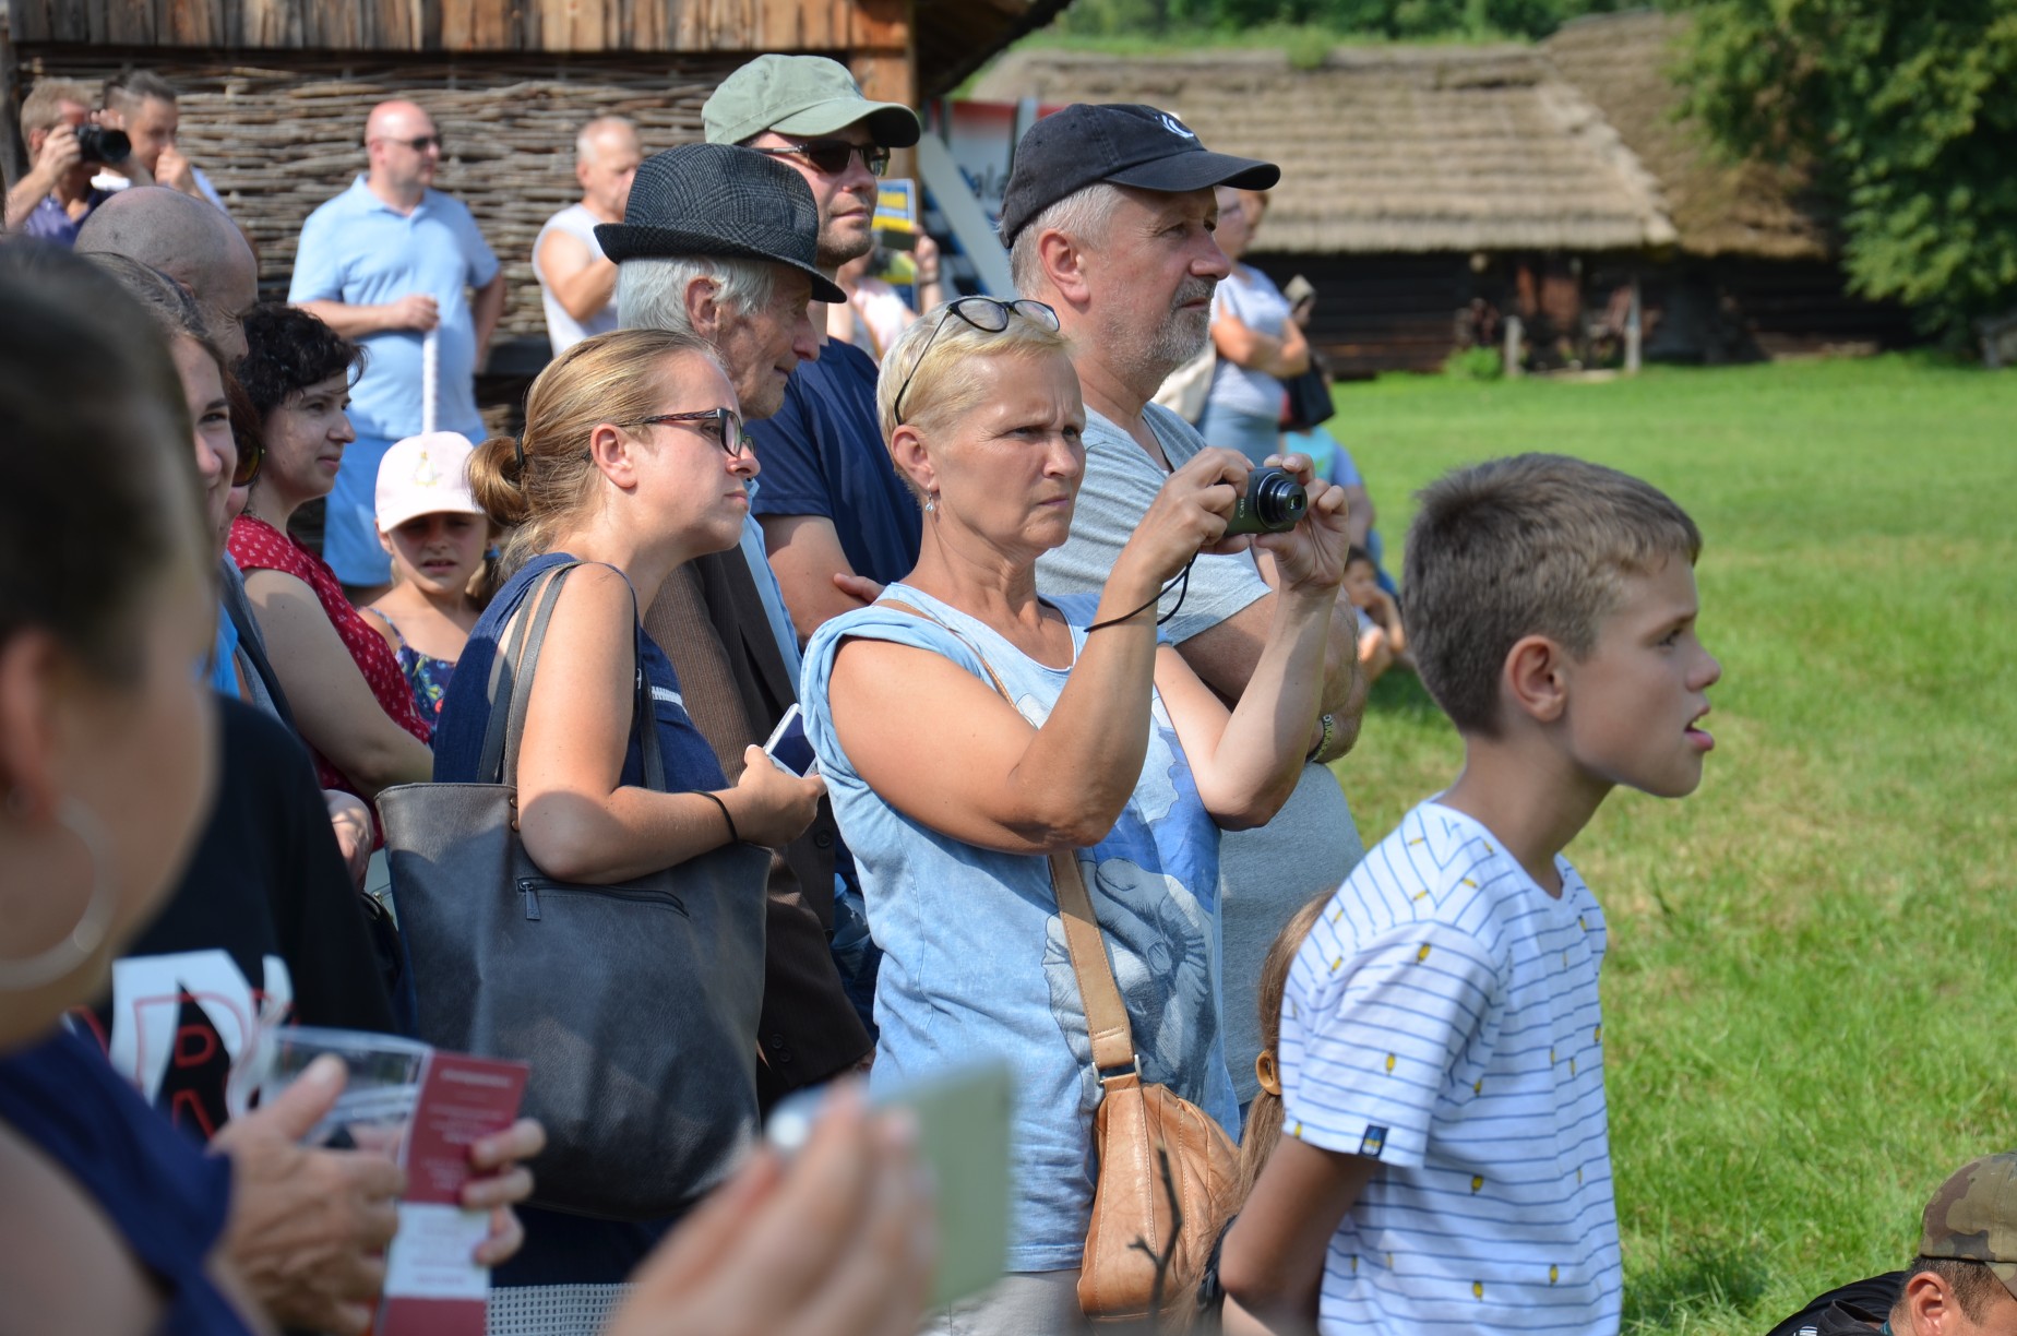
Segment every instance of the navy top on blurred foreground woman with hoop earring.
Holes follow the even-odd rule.
[[[232,1162],[204,1154],[69,1029],[0,1060],[0,1122],[111,1219],[161,1292],[167,1336],[250,1336],[204,1265],[224,1237]]]

